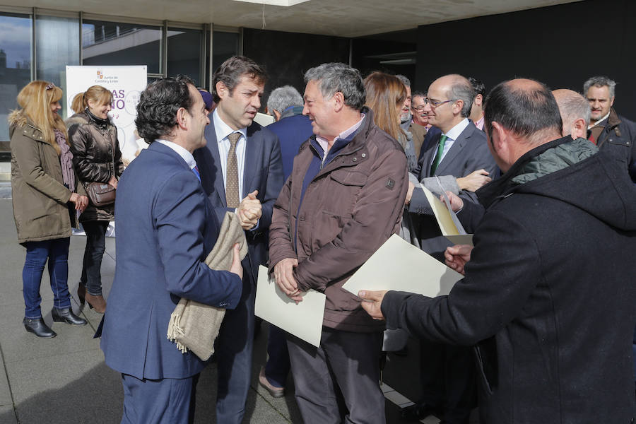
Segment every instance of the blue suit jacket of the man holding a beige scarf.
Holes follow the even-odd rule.
[[[142,151],[119,179],[117,261],[104,316],[106,364],[139,379],[184,378],[204,362],[168,341],[180,298],[232,309],[240,278],[204,263],[220,225],[187,163],[161,143]]]

